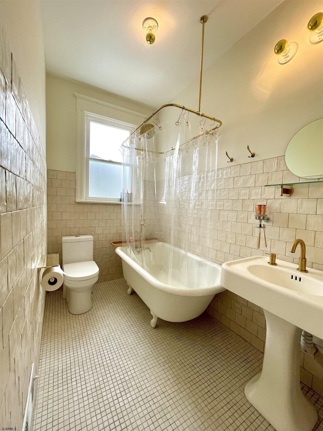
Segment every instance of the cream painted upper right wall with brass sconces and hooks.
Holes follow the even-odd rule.
[[[299,129],[323,117],[323,42],[311,44],[307,30],[321,9],[317,0],[285,1],[204,71],[201,111],[223,121],[219,167],[228,166],[226,151],[234,159],[231,165],[250,161],[247,145],[256,153],[253,161],[284,155]],[[210,25],[212,16],[205,38]],[[299,45],[284,65],[274,54],[282,38]],[[198,92],[196,81],[172,102],[197,109]]]

